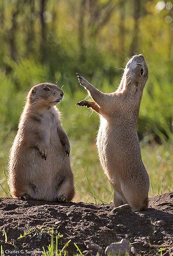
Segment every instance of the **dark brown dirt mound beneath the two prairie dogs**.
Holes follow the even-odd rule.
[[[162,254],[170,255],[172,212],[173,193],[151,198],[149,209],[142,212],[134,212],[128,205],[114,208],[112,203],[58,204],[1,198],[0,245],[5,255],[40,255],[42,247],[47,249],[51,244],[54,232],[59,249],[71,240],[66,248],[69,255],[77,253],[74,243],[85,255],[96,255],[97,250],[105,255],[108,245],[123,238],[131,243],[131,254],[156,255],[163,248]]]

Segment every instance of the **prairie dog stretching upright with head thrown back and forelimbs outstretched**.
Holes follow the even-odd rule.
[[[142,163],[136,129],[147,77],[148,69],[141,54],[128,61],[119,87],[113,93],[98,91],[78,74],[80,84],[94,101],[82,100],[77,105],[100,114],[96,145],[101,165],[114,188],[115,207],[128,203],[135,210],[144,210],[148,206],[150,182]]]

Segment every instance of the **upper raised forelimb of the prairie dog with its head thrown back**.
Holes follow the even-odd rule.
[[[78,77],[78,80],[79,80],[81,86],[84,86],[85,89],[87,91],[89,91],[89,93],[90,93],[91,97],[93,98],[93,100],[102,108],[102,106],[103,106],[103,104],[104,104],[104,102],[106,100],[106,97],[108,97],[108,94],[102,93],[101,91],[96,89],[82,75],[77,73],[77,77]]]

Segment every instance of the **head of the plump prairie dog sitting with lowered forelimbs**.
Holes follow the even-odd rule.
[[[58,104],[63,95],[63,91],[55,84],[40,83],[31,88],[27,101],[31,104],[50,107]]]

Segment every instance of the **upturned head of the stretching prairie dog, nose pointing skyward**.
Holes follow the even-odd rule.
[[[127,63],[122,77],[122,91],[136,93],[143,91],[149,70],[142,54],[133,56]]]

